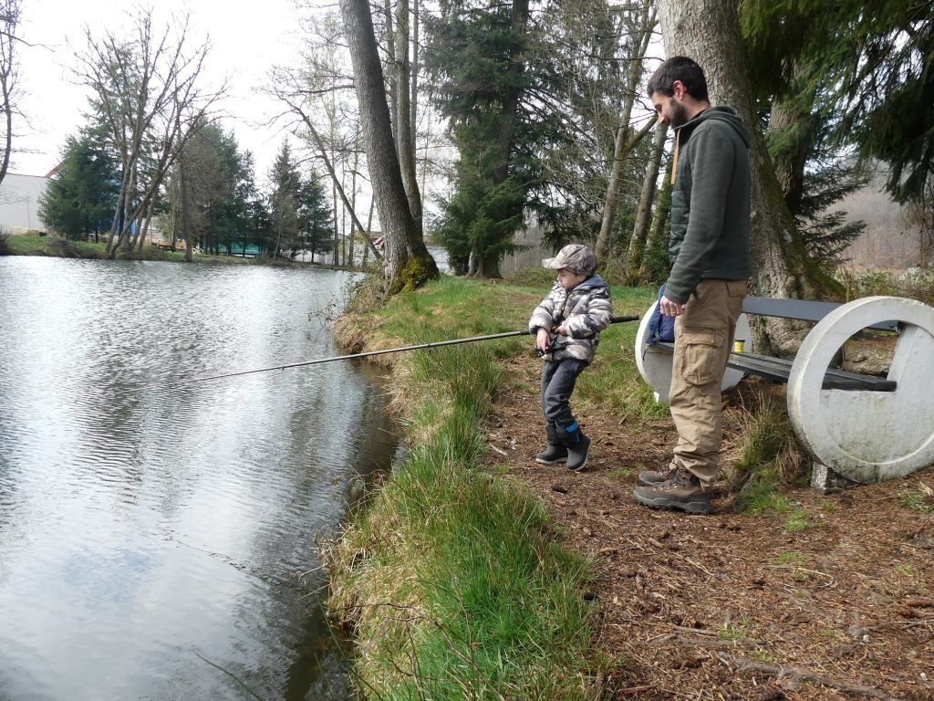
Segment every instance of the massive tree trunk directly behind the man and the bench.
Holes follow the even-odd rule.
[[[765,139],[757,128],[749,78],[743,68],[743,38],[731,0],[658,0],[662,38],[669,56],[686,55],[704,70],[711,102],[736,107],[752,135],[753,288],[770,297],[828,299],[840,286],[804,252],[785,206]],[[757,328],[757,350],[787,354],[797,348],[800,324],[770,320]]]

